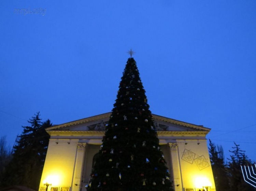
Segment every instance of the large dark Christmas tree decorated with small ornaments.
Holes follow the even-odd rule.
[[[173,190],[135,60],[128,59],[88,191]]]

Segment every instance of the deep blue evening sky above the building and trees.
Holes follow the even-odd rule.
[[[236,141],[256,160],[255,0],[0,7],[0,136],[8,144],[37,111],[53,124],[110,112],[132,48],[153,114],[209,127],[225,157]]]

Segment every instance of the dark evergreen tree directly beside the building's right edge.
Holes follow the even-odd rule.
[[[229,179],[226,167],[224,164],[224,154],[222,146],[216,146],[212,141],[210,141],[209,155],[212,166],[212,172],[214,177],[214,182],[216,190],[228,190],[229,189]]]

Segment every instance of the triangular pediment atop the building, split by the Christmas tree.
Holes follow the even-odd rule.
[[[46,129],[49,131],[104,131],[105,125],[108,123],[111,112],[88,117],[60,125],[54,125]],[[210,128],[201,125],[186,123],[158,115],[152,114],[154,124],[157,131],[171,131],[171,132],[191,132],[191,131],[205,131],[209,132]]]

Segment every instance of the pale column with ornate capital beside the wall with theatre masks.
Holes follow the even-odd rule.
[[[173,173],[173,186],[175,191],[182,191],[182,178],[181,178],[181,167],[180,167],[180,159],[178,154],[178,144],[177,143],[169,143],[170,153],[171,153],[171,166]],[[171,172],[170,172],[171,173]],[[179,185],[179,186],[177,186]]]

